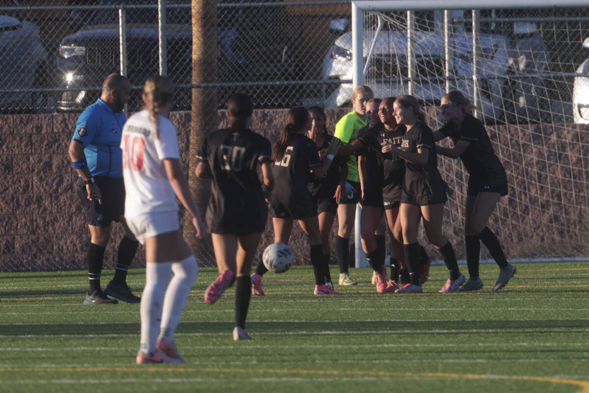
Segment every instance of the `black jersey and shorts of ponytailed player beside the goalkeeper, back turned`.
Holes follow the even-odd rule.
[[[313,176],[311,170],[321,165],[315,142],[302,133],[293,133],[282,160],[274,163],[274,213],[278,210],[276,207],[282,205],[287,210],[296,207],[294,210],[306,213],[296,214],[297,217],[292,217],[293,219],[304,219],[314,215],[316,206],[307,187]]]

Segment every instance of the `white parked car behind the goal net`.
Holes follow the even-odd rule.
[[[456,80],[450,82],[452,90],[459,90],[472,97],[472,33],[465,28],[464,12],[452,11],[452,66]],[[415,31],[415,62],[420,80],[414,84],[413,94],[424,102],[436,103],[445,94],[444,39],[441,29],[442,13],[429,15],[430,24]],[[401,25],[399,25],[400,27]],[[332,21],[332,31],[345,31],[345,19]],[[363,56],[369,54],[375,31],[366,30],[363,35]],[[532,78],[534,93],[528,88],[533,75],[547,70],[550,61],[548,49],[537,32],[535,24],[515,22],[513,37],[501,34],[481,33],[481,104],[480,108],[488,121],[519,119],[521,107],[538,107],[538,102],[547,99],[540,78]],[[533,49],[533,50],[531,50]],[[375,48],[367,74],[377,97],[391,97],[408,93],[408,39],[406,31],[383,29],[376,37]],[[513,79],[510,78],[513,76]],[[325,81],[352,79],[352,32],[345,32],[336,38],[333,47],[325,54],[322,64],[322,78]],[[331,87],[329,87],[331,86]],[[325,106],[347,105],[352,97],[352,84],[327,85]],[[532,103],[534,101],[534,103]],[[502,108],[506,108],[504,113]],[[510,108],[507,110],[507,108]],[[540,120],[540,111],[535,111],[535,120]]]

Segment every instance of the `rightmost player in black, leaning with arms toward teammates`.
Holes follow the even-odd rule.
[[[468,98],[459,91],[451,91],[442,97],[440,109],[446,123],[435,131],[434,139],[450,137],[454,141],[454,147],[436,148],[444,156],[460,158],[470,175],[464,214],[466,263],[470,278],[458,290],[477,290],[483,286],[479,277],[479,240],[484,243],[501,269],[493,288],[499,290],[517,270],[507,263],[499,240],[487,227],[487,221],[497,207],[499,198],[507,195],[507,175],[495,155],[485,126],[471,114],[472,104]]]

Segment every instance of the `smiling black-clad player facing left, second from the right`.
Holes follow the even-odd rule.
[[[411,285],[399,288],[397,292],[423,292],[418,271],[417,245],[417,232],[422,217],[428,240],[444,257],[450,272],[450,278],[439,292],[455,292],[465,278],[458,269],[454,247],[442,234],[446,184],[438,172],[434,134],[421,120],[419,103],[415,97],[401,95],[393,103],[393,109],[397,123],[404,124],[407,131],[403,135],[401,148],[385,144],[382,152],[390,152],[405,160],[399,219],[403,232],[405,262],[411,276]]]

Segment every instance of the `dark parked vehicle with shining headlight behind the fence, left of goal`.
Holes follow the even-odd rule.
[[[229,2],[243,3],[244,0]],[[144,0],[102,0],[100,4],[143,4]],[[218,82],[288,80],[293,67],[282,39],[280,24],[272,24],[276,7],[268,7],[266,18],[250,15],[250,8],[227,7],[219,11],[217,25]],[[130,8],[126,11],[127,77],[132,85],[142,85],[147,77],[158,72],[158,29],[156,8]],[[256,24],[253,24],[253,21]],[[267,25],[266,21],[270,21]],[[191,83],[192,26],[190,8],[167,9],[168,76],[174,84]],[[57,103],[58,111],[81,111],[100,95],[98,87],[105,75],[119,72],[118,10],[101,9],[88,13],[74,11],[70,16],[72,29],[78,29],[61,41],[57,67],[62,87],[68,90]],[[282,29],[283,30],[283,29]],[[264,34],[261,34],[264,32]],[[265,41],[250,42],[262,37]],[[256,95],[254,102],[265,107],[279,105],[263,97],[259,87],[237,88]],[[224,106],[235,87],[217,88],[217,99]],[[265,100],[265,101],[264,101]],[[130,110],[141,107],[140,91],[132,91]],[[174,109],[190,110],[191,92],[184,88],[176,94]]]

